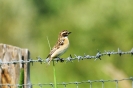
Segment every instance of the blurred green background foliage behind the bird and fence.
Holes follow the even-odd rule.
[[[64,29],[72,34],[70,48],[63,58],[70,54],[95,55],[97,50],[129,51],[133,47],[133,0],[0,0],[0,42],[28,48],[32,59],[46,58],[47,36],[53,46]],[[112,55],[97,61],[57,63],[57,83],[129,78],[133,76],[132,58]],[[52,64],[34,63],[30,72],[32,83],[53,82]],[[94,88],[101,86],[93,84]],[[79,85],[86,87],[89,84]],[[115,83],[105,83],[105,87],[113,88]],[[119,82],[119,88],[129,87],[131,82]]]

